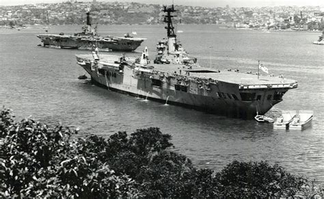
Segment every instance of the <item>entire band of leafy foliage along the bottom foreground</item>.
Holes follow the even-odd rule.
[[[0,196],[20,198],[312,197],[323,189],[280,165],[233,161],[198,169],[159,128],[77,138],[76,129],[0,114]]]

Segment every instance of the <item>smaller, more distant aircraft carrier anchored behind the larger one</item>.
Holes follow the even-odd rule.
[[[44,47],[61,47],[62,49],[92,49],[95,44],[100,50],[135,51],[146,38],[133,38],[129,34],[124,37],[98,36],[96,27],[92,28],[90,11],[87,12],[87,25],[81,33],[74,35],[39,34]]]

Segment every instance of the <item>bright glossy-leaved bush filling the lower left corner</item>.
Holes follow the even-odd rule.
[[[135,182],[116,175],[98,159],[103,138],[72,140],[75,129],[47,127],[30,118],[12,120],[12,111],[0,116],[0,196],[107,198],[137,196]]]

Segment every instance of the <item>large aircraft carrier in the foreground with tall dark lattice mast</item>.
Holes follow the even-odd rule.
[[[77,64],[84,68],[97,85],[109,90],[142,98],[202,109],[213,114],[234,118],[254,118],[264,115],[297,81],[284,77],[260,76],[220,71],[199,66],[197,59],[176,40],[172,15],[174,5],[164,7],[167,38],[157,44],[153,63],[148,50],[140,57],[76,55]]]

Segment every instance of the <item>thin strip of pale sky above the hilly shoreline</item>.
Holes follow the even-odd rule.
[[[67,0],[65,0],[67,1]],[[90,0],[78,0],[90,1]],[[97,0],[113,2],[116,0]],[[139,3],[153,4],[172,4],[172,0],[119,0]],[[324,7],[323,0],[173,0],[174,4],[179,5],[198,5],[203,7],[261,7],[261,6],[276,6],[276,5],[319,5]],[[63,0],[0,0],[0,5],[23,5],[28,3],[62,3]]]

